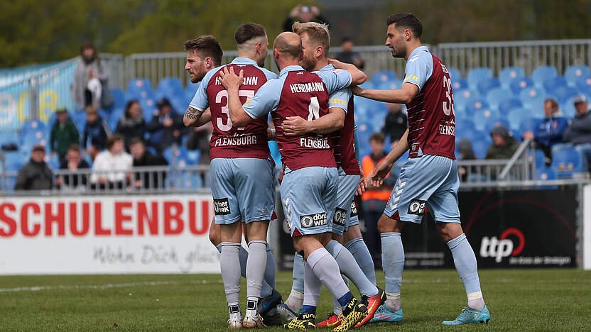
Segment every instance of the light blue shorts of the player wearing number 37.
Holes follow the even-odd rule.
[[[211,161],[215,223],[269,221],[275,209],[273,163],[257,158]]]

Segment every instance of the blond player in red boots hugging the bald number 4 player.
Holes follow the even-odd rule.
[[[298,33],[302,40],[302,67],[308,71],[330,71],[335,67],[327,59],[330,48],[330,35],[325,24],[308,22],[294,23],[293,32]],[[347,276],[362,294],[362,301],[367,305],[368,314],[357,327],[364,325],[374,316],[374,312],[381,305],[381,292],[376,287],[376,275],[372,256],[363,242],[359,230],[357,216],[351,218],[351,206],[354,194],[359,185],[361,172],[354,148],[354,114],[353,100],[349,89],[342,89],[330,96],[329,107],[340,110],[340,121],[330,123],[325,118],[306,121],[300,116],[288,116],[283,121],[283,131],[286,135],[304,135],[308,133],[332,133],[332,145],[335,161],[339,172],[337,192],[337,208],[332,219],[332,233],[327,233],[325,247],[339,264],[343,275]],[[338,127],[334,126],[339,124]],[[332,240],[331,240],[332,236]],[[343,238],[347,240],[345,247]],[[350,251],[349,251],[350,250]],[[354,253],[354,255],[352,255]],[[358,264],[359,262],[359,264]],[[362,269],[361,266],[364,268]],[[287,310],[298,311],[303,303],[303,259],[295,253],[293,267],[293,285],[290,297],[287,299]],[[370,279],[371,278],[371,279]],[[293,306],[293,307],[290,307]],[[336,327],[339,321],[340,308],[335,299],[334,311],[328,319],[316,327]]]

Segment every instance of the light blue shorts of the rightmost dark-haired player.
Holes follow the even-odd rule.
[[[459,223],[459,187],[455,160],[439,155],[409,158],[400,171],[384,214],[400,221],[421,223],[428,208],[435,222]]]

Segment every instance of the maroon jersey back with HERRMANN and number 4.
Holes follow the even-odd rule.
[[[328,114],[328,92],[322,79],[313,72],[294,70],[286,74],[281,98],[273,113],[276,140],[281,162],[291,170],[303,167],[336,167],[332,140],[327,135],[309,133],[302,136],[283,135],[283,121],[300,116],[312,121]]]

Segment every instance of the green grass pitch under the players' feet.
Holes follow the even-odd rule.
[[[287,296],[291,273],[277,280]],[[455,270],[415,270],[403,275],[403,323],[362,330],[591,330],[591,271],[482,270],[480,280],[488,324],[441,326],[465,305],[462,284]],[[219,275],[9,276],[0,277],[0,297],[0,331],[227,331]],[[330,306],[323,289],[318,319]]]

